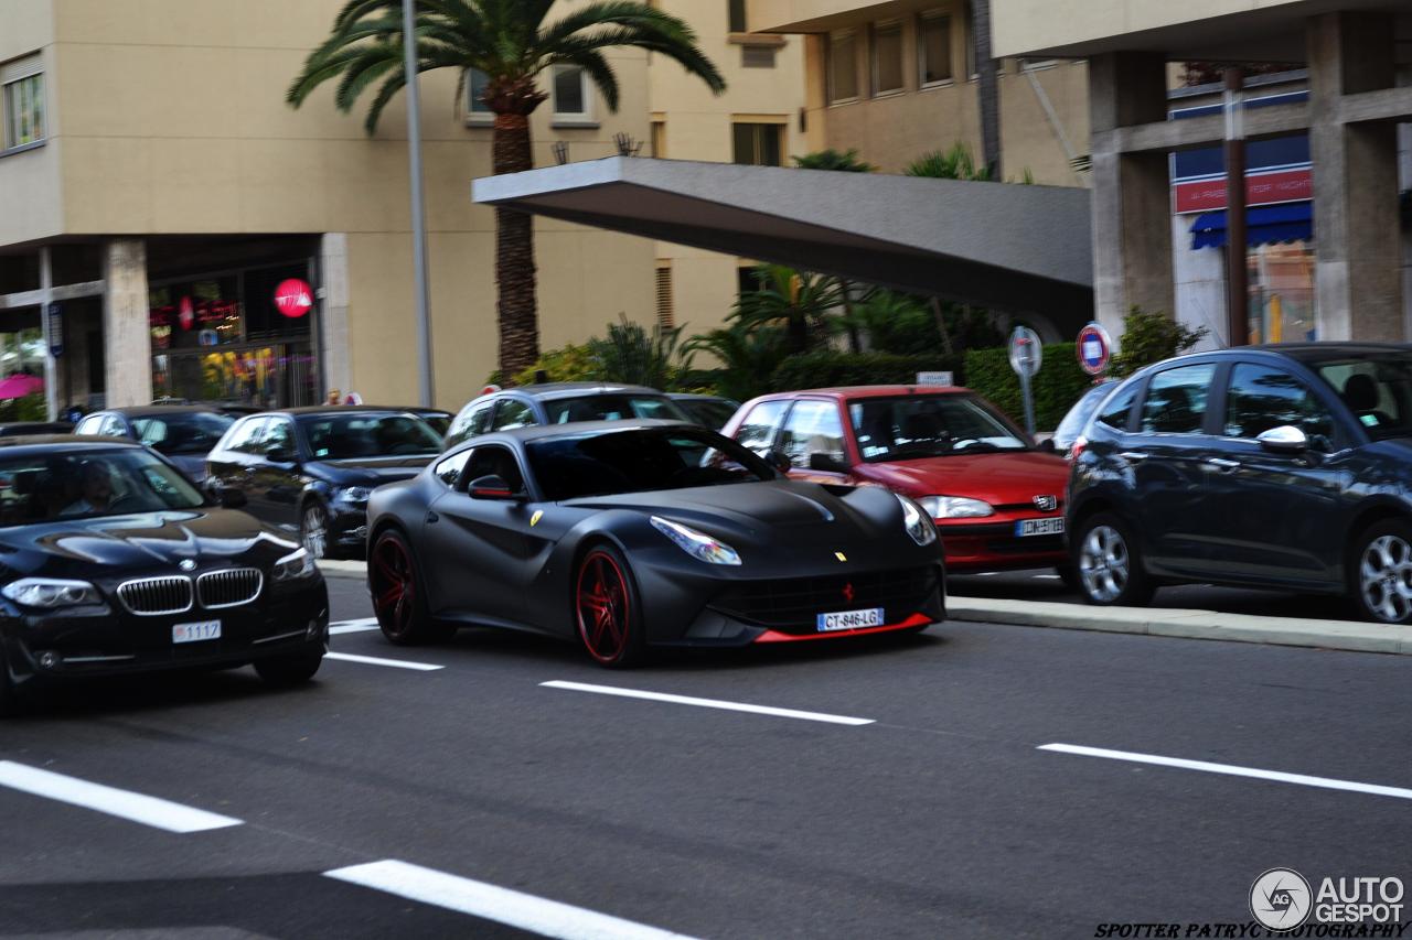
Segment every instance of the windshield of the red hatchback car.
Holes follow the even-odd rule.
[[[849,418],[868,463],[1029,447],[969,395],[857,398],[849,402]]]

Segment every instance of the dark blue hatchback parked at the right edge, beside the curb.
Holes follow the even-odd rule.
[[[1412,621],[1412,346],[1168,360],[1118,387],[1073,450],[1069,542],[1091,603],[1213,582]]]

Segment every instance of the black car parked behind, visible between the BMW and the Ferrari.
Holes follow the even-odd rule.
[[[208,488],[298,536],[315,558],[361,556],[374,487],[417,476],[441,435],[405,411],[318,405],[241,418],[208,459]]]

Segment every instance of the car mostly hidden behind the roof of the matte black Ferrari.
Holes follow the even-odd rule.
[[[460,409],[456,421],[450,422],[446,450],[491,430],[634,418],[696,421],[655,388],[604,382],[542,382],[505,388],[473,399]]]

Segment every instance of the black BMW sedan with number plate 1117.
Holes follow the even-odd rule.
[[[328,590],[301,546],[213,504],[161,456],[0,440],[0,711],[85,676],[253,663],[313,676]]]

